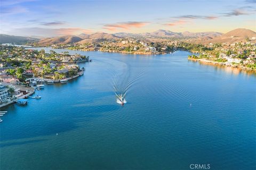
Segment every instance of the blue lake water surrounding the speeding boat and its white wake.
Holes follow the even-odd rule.
[[[1,169],[256,168],[254,74],[182,51],[69,52],[93,60],[80,64],[82,77],[1,109]],[[124,86],[138,73],[127,104],[117,104],[114,80]]]

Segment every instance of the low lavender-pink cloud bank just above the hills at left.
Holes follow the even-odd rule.
[[[91,30],[82,29],[82,28],[17,28],[13,29],[7,33],[12,35],[21,35],[21,36],[35,36],[40,35],[43,37],[53,37],[53,36],[67,36],[67,35],[78,35],[80,33],[91,33]]]

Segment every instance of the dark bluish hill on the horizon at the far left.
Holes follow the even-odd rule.
[[[28,41],[35,41],[37,38],[21,37],[21,36],[9,36],[0,34],[0,43],[26,43]]]

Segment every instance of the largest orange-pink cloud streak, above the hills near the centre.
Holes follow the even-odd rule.
[[[118,28],[130,30],[131,28],[140,28],[146,25],[148,22],[118,22],[115,24],[105,24],[103,29],[115,31]]]

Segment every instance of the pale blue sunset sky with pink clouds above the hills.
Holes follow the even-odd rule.
[[[0,0],[0,33],[53,37],[95,32],[256,31],[256,0]]]

